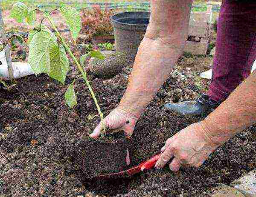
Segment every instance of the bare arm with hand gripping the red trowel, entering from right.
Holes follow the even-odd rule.
[[[242,129],[256,123],[256,71],[251,74],[215,111],[200,123],[182,129],[166,140],[157,168],[169,164],[199,167],[218,146]]]

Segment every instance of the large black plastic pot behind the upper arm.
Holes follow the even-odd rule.
[[[150,12],[120,12],[111,17],[116,51],[124,52],[134,61],[148,27]]]

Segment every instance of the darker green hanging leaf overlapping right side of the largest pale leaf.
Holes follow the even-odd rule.
[[[64,84],[69,69],[69,62],[64,46],[53,46],[50,49],[49,76]]]

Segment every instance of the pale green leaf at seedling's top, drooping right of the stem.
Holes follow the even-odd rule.
[[[69,27],[74,40],[76,40],[81,30],[81,17],[79,11],[65,5],[61,6],[60,11],[66,20],[67,26]]]

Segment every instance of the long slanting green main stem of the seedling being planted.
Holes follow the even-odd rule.
[[[89,80],[87,79],[87,76],[86,76],[86,72],[82,69],[81,65],[79,64],[79,62],[76,60],[76,57],[74,56],[74,54],[71,52],[69,46],[67,46],[67,44],[65,43],[65,40],[63,37],[61,37],[61,34],[59,33],[58,29],[56,28],[56,26],[53,24],[52,22],[52,19],[51,17],[47,14],[47,18],[49,20],[49,22],[51,23],[53,29],[55,30],[56,34],[58,35],[58,37],[61,38],[61,43],[62,45],[64,46],[65,50],[70,54],[70,56],[72,57],[73,61],[76,63],[76,67],[77,69],[81,72],[82,76],[83,76],[83,79],[84,79],[84,82],[86,83],[87,87],[89,88],[90,90],[90,94],[91,96],[93,97],[93,101],[98,109],[98,112],[99,112],[99,116],[101,118],[101,123],[102,123],[102,132],[101,132],[101,135],[102,137],[104,138],[105,134],[106,134],[106,131],[105,131],[105,124],[103,122],[103,114],[102,114],[102,111],[100,110],[100,107],[99,107],[99,103],[95,97],[95,94],[93,92],[93,89],[91,88],[90,86],[90,82]]]

